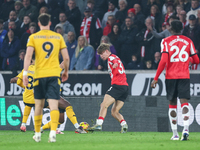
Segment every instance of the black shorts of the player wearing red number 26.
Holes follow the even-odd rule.
[[[190,99],[190,79],[166,79],[167,99]]]

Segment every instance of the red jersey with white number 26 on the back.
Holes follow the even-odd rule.
[[[161,42],[161,53],[168,53],[166,79],[189,79],[189,58],[196,54],[193,42],[186,36],[173,35]]]

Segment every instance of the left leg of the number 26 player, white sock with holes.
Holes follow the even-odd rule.
[[[170,101],[168,116],[173,132],[171,140],[179,140],[179,135],[177,132],[177,98],[174,98]]]

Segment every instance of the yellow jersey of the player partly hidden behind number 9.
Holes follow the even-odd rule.
[[[17,85],[21,86],[24,88],[23,85],[23,71],[18,74],[18,80],[17,80]],[[35,104],[34,100],[34,95],[33,95],[33,79],[34,79],[34,71],[35,71],[35,66],[30,65],[28,67],[28,86],[25,87],[24,93],[23,93],[23,101],[28,104]]]

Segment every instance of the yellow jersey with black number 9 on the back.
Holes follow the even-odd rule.
[[[28,46],[35,50],[35,79],[60,77],[59,52],[66,48],[62,35],[41,30],[29,36]]]

